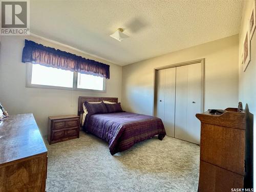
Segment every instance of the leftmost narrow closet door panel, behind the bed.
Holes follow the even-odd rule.
[[[156,116],[164,121],[165,70],[157,72],[157,111]]]

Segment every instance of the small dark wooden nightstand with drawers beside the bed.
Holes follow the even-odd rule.
[[[49,144],[79,138],[80,117],[77,115],[51,116],[48,119]]]

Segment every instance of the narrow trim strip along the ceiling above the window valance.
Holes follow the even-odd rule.
[[[111,63],[113,63],[113,64],[115,64],[115,65],[118,65],[117,63],[115,63],[115,62],[113,62],[113,61],[111,61],[111,60],[109,60],[109,59],[105,59],[105,58],[103,58],[103,57],[99,57],[99,56],[97,56],[97,55],[94,55],[94,54],[91,54],[91,53],[82,51],[82,50],[80,50],[80,49],[77,49],[77,48],[68,46],[68,45],[66,45],[66,44],[62,44],[61,42],[58,42],[58,41],[55,41],[55,40],[52,40],[52,39],[49,39],[49,38],[46,38],[46,37],[42,37],[42,36],[40,36],[40,35],[36,35],[36,34],[34,34],[34,33],[31,33],[31,32],[30,32],[30,36],[36,37],[36,38],[39,38],[39,39],[42,39],[42,40],[45,40],[45,41],[48,41],[48,42],[51,42],[52,44],[55,44],[55,45],[58,45],[58,46],[61,46],[61,47],[65,47],[65,48],[68,48],[68,49],[77,51],[77,52],[79,52],[79,53],[82,53],[82,54],[89,55],[89,56],[91,56],[91,57],[95,57],[95,59],[102,59],[102,60],[111,62]],[[118,66],[119,66],[119,65],[118,65]]]

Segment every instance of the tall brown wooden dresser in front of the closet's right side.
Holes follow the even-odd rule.
[[[237,111],[196,115],[201,121],[199,192],[244,188],[246,116]]]

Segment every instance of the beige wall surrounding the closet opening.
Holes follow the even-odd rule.
[[[234,35],[124,66],[124,110],[152,115],[154,68],[200,58],[205,58],[204,109],[237,107],[238,35]]]

